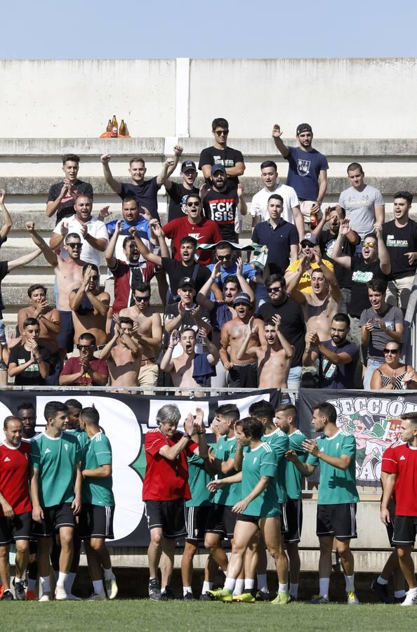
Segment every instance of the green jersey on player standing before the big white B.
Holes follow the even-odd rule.
[[[81,470],[95,470],[102,465],[112,465],[112,446],[101,431],[88,442],[83,455]],[[88,476],[83,478],[82,501],[90,505],[112,507],[114,496],[112,492],[113,479],[111,476],[100,478]]]

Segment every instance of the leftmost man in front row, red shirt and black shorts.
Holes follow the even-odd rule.
[[[0,577],[4,585],[1,601],[12,601],[8,553],[15,542],[15,596],[25,601],[25,570],[29,562],[32,503],[29,497],[30,446],[22,442],[22,422],[4,419],[4,442],[0,444]]]

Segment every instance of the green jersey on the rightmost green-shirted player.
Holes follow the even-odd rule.
[[[323,459],[312,454],[308,455],[307,463],[320,466],[319,505],[338,505],[341,503],[359,503],[356,489],[356,441],[353,435],[347,435],[339,430],[333,437],[319,437],[317,445],[320,452],[329,456],[351,456],[347,470],[340,470],[329,465]]]

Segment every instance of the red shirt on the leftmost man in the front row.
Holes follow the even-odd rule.
[[[16,514],[32,511],[29,496],[30,444],[21,442],[15,448],[0,444],[0,492]],[[0,515],[4,511],[0,506]]]

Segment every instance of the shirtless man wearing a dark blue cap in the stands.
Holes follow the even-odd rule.
[[[248,351],[239,359],[236,355],[248,333],[252,312],[251,299],[248,294],[241,292],[234,298],[233,306],[237,316],[226,322],[220,331],[220,360],[228,371],[227,386],[256,388],[258,386],[256,355]],[[259,344],[258,334],[253,336],[252,342]]]

